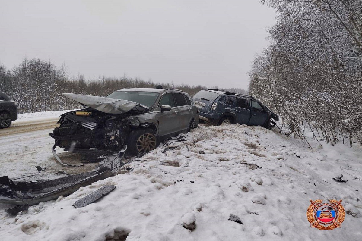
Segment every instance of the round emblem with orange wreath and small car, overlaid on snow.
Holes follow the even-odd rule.
[[[345,210],[341,205],[342,200],[329,200],[329,203],[323,203],[321,199],[310,200],[311,205],[307,210],[307,218],[311,223],[311,228],[320,230],[332,230],[340,228],[344,221]]]

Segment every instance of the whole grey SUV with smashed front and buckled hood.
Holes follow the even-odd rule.
[[[136,155],[198,126],[198,109],[175,89],[125,88],[106,97],[62,94],[84,106],[64,113],[49,135],[65,151],[96,148]],[[55,147],[54,146],[54,147]]]

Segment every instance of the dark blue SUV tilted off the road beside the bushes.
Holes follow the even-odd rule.
[[[199,119],[214,125],[239,123],[271,129],[276,125],[271,118],[279,120],[278,115],[249,95],[207,89],[199,91],[192,99],[199,108]]]

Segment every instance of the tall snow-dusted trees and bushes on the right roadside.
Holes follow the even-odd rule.
[[[271,44],[253,61],[249,93],[287,133],[362,144],[362,0],[264,0]]]

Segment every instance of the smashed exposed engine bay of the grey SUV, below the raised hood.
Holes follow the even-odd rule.
[[[90,148],[118,151],[125,145],[131,126],[137,124],[132,116],[92,109],[65,113],[57,123],[60,126],[49,135],[55,139],[55,146],[65,151]]]

